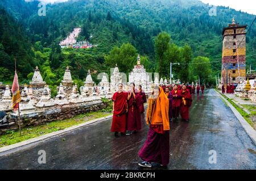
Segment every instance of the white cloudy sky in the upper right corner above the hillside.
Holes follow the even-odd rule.
[[[252,0],[200,0],[204,3],[209,3],[209,5],[214,6],[225,6],[235,9],[237,11],[241,10],[249,14],[256,15],[256,1]]]

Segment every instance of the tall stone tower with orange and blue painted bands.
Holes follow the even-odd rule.
[[[233,18],[232,24],[223,28],[221,82],[225,87],[245,81],[246,27]]]

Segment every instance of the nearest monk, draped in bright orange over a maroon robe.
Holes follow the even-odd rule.
[[[162,87],[156,86],[148,98],[146,122],[149,125],[147,140],[139,150],[139,166],[152,167],[152,162],[167,166],[170,159],[169,100]]]

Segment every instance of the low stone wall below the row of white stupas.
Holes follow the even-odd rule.
[[[28,126],[45,124],[55,120],[69,119],[81,113],[102,110],[102,108],[105,108],[106,106],[106,103],[102,103],[100,101],[84,105],[80,104],[80,106],[73,104],[70,106],[55,107],[46,111],[24,113],[21,115],[22,123],[20,125],[22,128],[24,128]],[[7,115],[7,123],[2,125],[0,124],[0,134],[3,134],[8,130],[16,129],[19,129],[18,115],[16,115],[16,113],[9,113]]]

